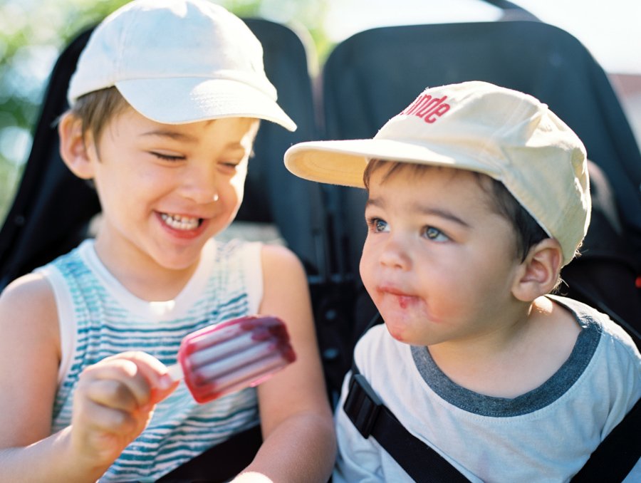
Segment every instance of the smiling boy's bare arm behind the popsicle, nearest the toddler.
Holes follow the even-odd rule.
[[[263,249],[260,312],[286,323],[296,362],[259,385],[264,443],[247,471],[274,482],[326,482],[336,452],[303,266],[280,246]]]

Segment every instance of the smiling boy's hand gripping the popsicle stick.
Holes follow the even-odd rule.
[[[176,388],[160,360],[142,352],[105,358],[83,370],[73,398],[71,445],[96,466],[110,465]]]

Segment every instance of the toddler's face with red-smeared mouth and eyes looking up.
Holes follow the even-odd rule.
[[[404,165],[372,172],[360,274],[387,329],[429,346],[500,330],[522,311],[511,223],[481,175]]]

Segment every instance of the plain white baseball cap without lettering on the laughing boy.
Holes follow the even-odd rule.
[[[100,23],[78,59],[69,104],[112,86],[159,123],[246,117],[296,130],[276,103],[258,38],[208,0],[134,0]]]

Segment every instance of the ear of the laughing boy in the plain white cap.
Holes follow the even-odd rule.
[[[65,113],[58,123],[58,135],[60,155],[71,172],[83,180],[93,178],[93,164],[88,153],[90,142],[85,144],[82,121],[71,113]]]

